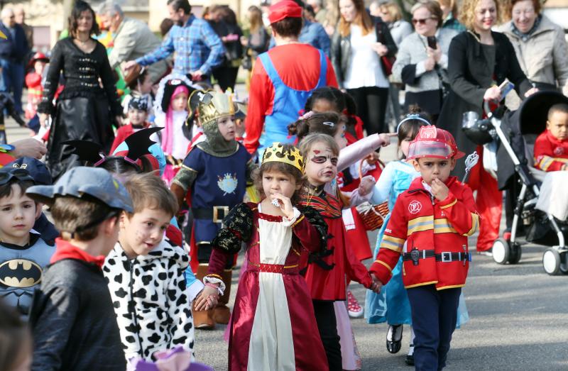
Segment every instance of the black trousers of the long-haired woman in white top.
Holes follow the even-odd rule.
[[[360,87],[347,89],[347,92],[355,100],[357,116],[363,121],[367,135],[387,133],[388,127],[385,124],[385,113],[388,102],[388,88]]]

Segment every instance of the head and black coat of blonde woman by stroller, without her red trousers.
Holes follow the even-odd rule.
[[[476,13],[476,6],[484,3],[489,6],[484,6],[486,15],[480,16]],[[465,0],[463,6],[461,14],[465,19],[462,23],[466,24],[468,31],[454,37],[449,45],[448,78],[452,91],[444,101],[438,126],[454,135],[460,150],[472,153],[476,145],[461,131],[464,112],[476,111],[481,117],[484,101],[501,101],[498,86],[505,79],[515,84],[519,96],[528,96],[533,90],[506,35],[491,31],[492,24],[484,23],[491,17],[491,9],[493,23],[497,20],[498,4],[493,0]],[[461,177],[464,170],[463,162],[460,162],[454,174]]]

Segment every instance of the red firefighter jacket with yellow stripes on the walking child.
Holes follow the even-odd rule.
[[[479,226],[474,196],[468,186],[456,177],[446,181],[449,194],[438,201],[422,186],[422,177],[414,179],[407,191],[398,196],[391,219],[378,250],[377,260],[370,271],[386,284],[401,253],[413,248],[434,250],[435,254],[469,253],[467,238]],[[405,245],[406,242],[406,245]],[[464,255],[461,255],[462,257]],[[444,259],[446,260],[446,259]],[[403,283],[407,289],[426,284],[436,284],[437,289],[462,287],[466,283],[469,262],[436,261],[435,257],[403,262]]]

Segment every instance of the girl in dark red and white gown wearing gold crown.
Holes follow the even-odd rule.
[[[328,369],[310,292],[299,274],[305,252],[325,250],[327,236],[317,211],[295,206],[303,166],[292,145],[268,147],[256,178],[263,201],[231,209],[212,240],[209,274],[195,303],[198,311],[212,306],[224,289],[227,260],[241,250],[241,243],[247,245],[248,265],[231,320],[229,370]]]

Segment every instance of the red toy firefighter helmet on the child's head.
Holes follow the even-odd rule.
[[[421,126],[418,135],[408,148],[408,160],[420,157],[461,158],[465,153],[457,149],[452,134],[434,125]]]

